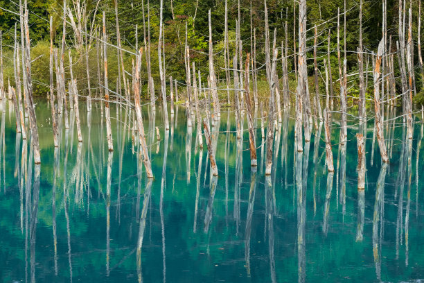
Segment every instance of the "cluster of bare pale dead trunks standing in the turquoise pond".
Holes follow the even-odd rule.
[[[385,104],[389,107],[396,105],[396,80],[394,76],[394,58],[397,53],[398,65],[400,68],[400,82],[402,89],[402,102],[403,102],[403,117],[407,125],[407,137],[412,139],[413,137],[413,122],[412,116],[412,98],[416,92],[415,85],[415,74],[414,74],[414,42],[412,39],[412,6],[408,9],[408,26],[406,28],[406,0],[399,0],[399,25],[398,25],[398,41],[396,41],[397,52],[392,52],[392,40],[389,35],[387,40],[387,0],[382,2],[382,40],[378,46],[378,52],[375,55],[364,52],[363,40],[362,40],[362,0],[360,1],[360,36],[359,46],[357,46],[357,63],[358,63],[358,80],[359,80],[359,97],[358,103],[358,115],[359,119],[359,131],[357,134],[357,146],[358,146],[358,188],[363,187],[362,176],[364,175],[364,134],[366,134],[366,89],[368,88],[368,73],[373,74],[373,101],[375,110],[375,128],[374,135],[378,141],[380,148],[380,155],[383,162],[389,162],[389,154],[387,145],[389,142],[385,140],[384,126],[385,126]],[[72,121],[71,129],[73,129],[73,119],[68,117],[68,108],[74,110],[76,115],[75,121],[77,126],[78,141],[83,140],[82,130],[80,125],[80,110],[79,100],[80,94],[78,92],[78,78],[73,76],[73,56],[69,51],[69,66],[65,67],[65,41],[67,24],[72,28],[75,36],[76,49],[80,53],[80,60],[84,60],[87,67],[87,111],[91,111],[91,102],[100,101],[102,116],[103,116],[103,105],[104,105],[104,119],[107,128],[107,144],[109,151],[114,151],[114,142],[112,137],[112,126],[111,126],[111,115],[109,110],[109,103],[116,103],[116,107],[122,107],[122,105],[134,108],[135,117],[133,118],[134,130],[138,132],[139,144],[141,148],[140,155],[143,157],[143,162],[149,178],[153,177],[152,169],[150,165],[150,156],[148,154],[148,142],[145,139],[145,131],[143,128],[143,116],[141,112],[141,65],[142,55],[145,53],[145,62],[147,70],[147,91],[150,97],[150,111],[152,114],[156,111],[156,96],[154,91],[154,80],[152,78],[152,66],[150,59],[150,3],[147,2],[147,28],[144,17],[144,1],[142,1],[143,8],[143,45],[139,48],[138,40],[136,41],[135,51],[127,51],[123,49],[121,42],[121,33],[119,30],[118,21],[118,4],[117,0],[114,0],[114,12],[116,16],[116,45],[111,44],[108,40],[106,31],[106,17],[105,11],[103,11],[103,35],[100,37],[98,30],[94,29],[95,17],[91,23],[91,28],[88,22],[87,4],[83,1],[82,6],[76,10],[71,10],[67,2],[63,3],[63,29],[62,38],[60,40],[60,46],[58,48],[53,45],[53,18],[50,19],[50,85],[49,85],[49,103],[51,105],[51,121],[53,125],[53,141],[54,146],[58,147],[60,144],[59,132],[64,119],[64,128],[69,130],[70,120]],[[98,10],[94,11],[94,15]],[[164,26],[164,1],[160,1],[159,10],[159,40],[157,45],[157,55],[159,63],[159,78],[160,78],[160,90],[159,97],[161,97],[162,105],[161,110],[163,111],[164,117],[164,128],[166,132],[170,129],[170,121],[168,118],[168,94],[166,87],[166,62],[165,62],[165,26]],[[288,54],[288,22],[285,21],[283,25],[283,32],[285,40],[281,42],[281,54],[279,55],[279,48],[277,47],[276,35],[277,30],[274,30],[273,40],[270,37],[270,27],[268,20],[267,1],[264,0],[265,10],[265,72],[266,80],[270,90],[268,97],[268,109],[267,109],[267,132],[265,135],[264,120],[265,113],[263,111],[263,101],[260,101],[258,97],[258,69],[256,58],[256,29],[252,28],[252,15],[250,14],[250,52],[246,52],[245,60],[243,60],[243,42],[241,40],[241,25],[240,22],[240,1],[238,2],[238,18],[236,19],[236,40],[235,40],[235,51],[230,54],[229,49],[229,26],[228,26],[228,3],[225,1],[225,21],[224,21],[224,92],[227,94],[227,103],[231,105],[233,103],[233,112],[236,118],[236,137],[240,144],[242,143],[243,135],[245,132],[244,121],[247,120],[247,132],[249,135],[249,151],[251,157],[251,166],[257,166],[257,147],[256,147],[256,122],[260,119],[261,132],[263,139],[263,146],[265,145],[265,175],[272,173],[273,167],[273,156],[274,156],[274,137],[275,132],[281,130],[281,123],[283,121],[283,112],[285,112],[289,106],[293,103],[295,108],[295,150],[297,152],[303,151],[303,142],[308,143],[311,139],[312,124],[315,120],[315,130],[318,130],[318,123],[321,125],[324,119],[325,128],[325,141],[326,141],[326,165],[328,171],[334,171],[333,166],[333,153],[331,144],[331,127],[332,122],[339,122],[340,135],[339,145],[345,146],[348,142],[348,74],[347,74],[347,63],[346,63],[346,0],[344,1],[344,58],[342,58],[342,52],[340,51],[340,9],[337,10],[337,60],[338,60],[338,71],[339,71],[339,97],[335,96],[335,89],[333,87],[333,76],[330,62],[330,35],[331,31],[328,31],[328,42],[327,42],[327,56],[324,58],[324,73],[325,73],[325,94],[320,94],[320,74],[319,64],[317,62],[318,54],[318,26],[313,28],[314,30],[314,46],[313,46],[313,64],[314,64],[314,91],[315,94],[310,94],[309,83],[308,83],[308,58],[307,53],[309,51],[308,42],[308,28],[307,28],[307,6],[306,0],[299,1],[298,10],[298,25],[296,26],[296,17],[294,17],[294,70],[295,78],[297,80],[297,88],[295,89],[294,95],[289,88],[289,58]],[[294,5],[294,14],[296,15],[296,5]],[[33,142],[34,148],[34,160],[35,163],[41,162],[38,145],[38,132],[37,132],[37,120],[35,117],[35,109],[33,102],[33,86],[31,80],[31,58],[30,58],[30,38],[28,29],[28,8],[26,0],[24,3],[19,1],[19,19],[21,29],[21,42],[17,38],[17,25],[15,25],[15,46],[14,46],[14,73],[15,73],[15,87],[8,87],[9,98],[15,108],[16,113],[16,126],[17,132],[22,133],[22,138],[26,139],[26,117],[28,117],[28,132]],[[69,19],[69,22],[67,21]],[[287,19],[287,15],[286,15]],[[83,28],[85,26],[85,28]],[[421,58],[421,1],[419,3],[418,10],[418,66],[420,67],[421,75],[424,75],[423,71],[423,60]],[[204,135],[206,146],[209,151],[209,160],[211,163],[213,175],[218,175],[218,167],[215,160],[216,144],[219,135],[219,124],[221,112],[224,109],[222,107],[220,92],[218,92],[220,83],[218,82],[217,75],[215,74],[215,62],[213,53],[213,33],[212,33],[212,22],[211,22],[211,10],[209,10],[209,60],[207,74],[207,87],[202,85],[200,68],[198,74],[196,74],[195,62],[191,64],[191,49],[188,46],[188,27],[186,24],[186,39],[184,46],[184,62],[186,71],[185,81],[185,94],[186,94],[186,116],[187,126],[192,129],[196,126],[196,142],[200,148],[203,148]],[[296,35],[296,31],[298,32]],[[96,36],[95,36],[96,35]],[[138,36],[138,26],[136,26],[136,36]],[[89,75],[89,51],[93,39],[96,40],[96,55],[97,55],[97,74],[98,74],[98,87],[96,87],[96,94],[91,94],[91,81]],[[296,40],[297,39],[297,40]],[[271,42],[272,41],[272,42]],[[389,42],[387,46],[387,42]],[[82,49],[85,44],[85,50]],[[108,65],[107,55],[110,52],[112,46],[116,48],[118,58],[118,78],[116,78],[116,92],[113,92],[109,88],[108,80]],[[3,85],[3,44],[2,34],[0,31],[0,98],[6,100],[6,91]],[[312,50],[312,49],[310,49]],[[85,53],[82,53],[85,51]],[[130,53],[135,56],[135,65],[133,59],[132,74],[125,70],[123,52]],[[279,78],[279,65],[277,64],[279,56],[281,57],[281,74],[282,78]],[[231,60],[233,58],[233,66],[230,67]],[[368,70],[369,60],[372,60],[372,71]],[[102,62],[100,64],[99,62]],[[364,61],[366,67],[364,69]],[[103,65],[103,67],[100,67]],[[54,70],[53,70],[54,67]],[[69,69],[69,78],[65,77],[65,69]],[[231,71],[233,73],[233,80],[231,82]],[[364,75],[365,74],[365,75]],[[127,78],[132,78],[130,80]],[[196,77],[197,76],[197,77]],[[21,81],[22,78],[22,81]],[[198,79],[198,80],[197,80]],[[69,82],[68,85],[66,82]],[[174,114],[174,102],[179,101],[178,88],[181,87],[182,83],[177,83],[177,80],[169,77],[170,86],[170,114]],[[123,94],[122,94],[123,88]],[[251,91],[252,89],[252,91]],[[233,93],[233,101],[231,102],[230,94]],[[321,108],[321,96],[325,97],[325,108]],[[294,98],[294,99],[292,99]],[[311,99],[312,98],[312,99]],[[313,103],[311,103],[311,100]],[[335,111],[335,101],[339,101],[339,111]],[[265,101],[266,102],[266,101]],[[258,117],[258,108],[261,108],[260,117]],[[312,107],[313,106],[313,107]],[[313,109],[312,109],[313,108]],[[338,112],[340,120],[333,120],[333,112]],[[118,112],[117,112],[118,113]],[[203,114],[205,113],[205,114]],[[133,115],[134,116],[134,115]],[[171,118],[172,119],[172,118]],[[319,122],[318,122],[319,121]],[[196,125],[194,125],[196,123]],[[202,130],[203,129],[203,130]],[[160,139],[160,137],[158,137]],[[317,137],[319,138],[319,137]]]

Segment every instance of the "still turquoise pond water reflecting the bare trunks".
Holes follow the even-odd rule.
[[[50,110],[38,102],[40,167],[31,160],[29,141],[16,134],[15,113],[8,105],[0,113],[1,282],[424,279],[421,123],[414,140],[405,142],[402,121],[389,120],[391,163],[382,166],[368,122],[366,189],[358,193],[355,121],[347,145],[333,146],[336,171],[328,174],[324,128],[321,139],[313,136],[296,153],[289,114],[276,134],[272,175],[265,178],[264,147],[254,173],[247,132],[241,151],[235,132],[227,133],[236,128],[233,116],[222,114],[219,176],[211,178],[206,146],[196,148],[185,109],[176,111],[168,135],[160,108],[154,118],[145,110],[154,173],[149,182],[115,108],[109,153],[100,109],[90,117],[80,104],[84,142],[78,144],[76,126],[63,129],[55,150]],[[127,121],[125,109],[118,118]],[[259,146],[260,129],[257,134]],[[338,139],[334,124],[333,144]]]

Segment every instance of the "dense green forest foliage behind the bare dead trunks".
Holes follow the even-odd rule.
[[[71,2],[71,3],[69,3]],[[116,19],[114,12],[114,1],[100,1],[96,0],[80,1],[81,3],[87,2],[87,28],[91,28],[91,23],[94,21],[94,36],[96,30],[101,27],[101,13],[103,10],[106,12],[107,17],[107,33],[109,35],[109,42],[116,44]],[[218,79],[224,77],[224,6],[225,1],[214,0],[166,0],[164,1],[164,27],[165,27],[165,60],[166,60],[166,76],[173,76],[178,80],[185,80],[184,71],[184,40],[185,40],[185,25],[188,24],[188,45],[191,48],[191,60],[196,62],[197,68],[202,72],[204,80],[206,81],[207,69],[207,52],[209,40],[209,27],[208,27],[208,10],[211,9],[212,28],[213,28],[213,43],[215,53],[215,65]],[[285,22],[288,24],[288,54],[290,55],[289,68],[294,71],[293,56],[294,53],[294,40],[297,41],[298,31],[298,10],[293,7],[295,1],[267,1],[270,29],[276,28],[277,32],[277,46],[281,46],[281,42],[285,41]],[[98,7],[97,7],[98,4]],[[48,41],[50,40],[48,18],[53,16],[54,28],[54,42],[55,46],[59,46],[62,35],[62,5],[63,0],[45,1],[45,0],[28,0],[28,8],[30,10],[30,37],[33,44],[33,58],[42,55],[35,62],[33,68],[33,76],[35,80],[42,84],[36,84],[37,94],[46,92],[47,88],[44,84],[48,84]],[[75,6],[71,0],[67,5],[75,12]],[[323,60],[327,52],[327,36],[328,30],[331,31],[330,51],[331,51],[331,65],[332,75],[334,80],[338,78],[338,63],[337,63],[337,8],[340,9],[340,49],[344,50],[344,1],[342,0],[313,0],[307,1],[308,5],[308,46],[313,45],[313,27],[318,27],[318,64],[319,68],[323,67]],[[408,3],[409,6],[409,3]],[[19,12],[19,8],[15,1],[0,0],[0,7],[6,10]],[[98,8],[96,16],[94,11]],[[148,8],[150,10],[150,17],[148,18]],[[295,8],[295,14],[294,14]],[[408,8],[408,7],[407,7]],[[3,46],[5,49],[4,60],[6,74],[5,80],[12,77],[12,65],[9,64],[8,59],[11,57],[12,50],[10,47],[13,45],[13,30],[15,23],[18,23],[18,36],[19,36],[19,21],[17,15],[12,14],[6,10],[0,10],[0,28],[3,31]],[[358,40],[359,40],[359,1],[347,0],[346,1],[346,50],[348,60],[348,72],[354,72],[357,69],[357,53],[355,53]],[[413,10],[413,38],[416,42],[417,36],[417,17],[418,17],[418,1],[412,2]],[[148,19],[150,19],[150,39],[152,51],[152,73],[156,81],[159,81],[159,69],[157,67],[157,38],[159,35],[159,0],[152,0],[147,3],[144,0],[144,13],[145,25],[148,26]],[[234,51],[236,19],[238,18],[238,1],[228,1],[229,13],[229,40],[230,40],[230,57]],[[365,51],[375,51],[378,42],[382,37],[382,2],[381,1],[364,1],[362,19],[362,31],[364,38]],[[125,49],[134,52],[136,41],[138,40],[139,46],[143,46],[143,3],[142,0],[118,0],[118,18],[121,31],[121,38]],[[241,19],[241,39],[243,42],[243,53],[251,51],[251,28],[256,29],[256,48],[257,48],[257,61],[258,66],[261,66],[265,60],[264,48],[264,3],[263,1],[240,0],[240,19]],[[295,20],[295,25],[293,20]],[[252,22],[252,25],[250,24]],[[396,40],[398,40],[398,1],[387,1],[387,25],[388,35],[393,36],[392,50],[396,51]],[[136,35],[136,25],[138,25],[138,39]],[[296,37],[294,37],[294,26],[296,26]],[[147,35],[146,35],[147,37]],[[96,87],[96,40],[91,42],[90,74],[92,76],[91,82]],[[73,49],[75,44],[75,36],[71,26],[67,26],[67,48]],[[416,47],[415,47],[416,48]],[[9,51],[8,51],[9,50]],[[8,53],[10,52],[10,53]],[[73,50],[73,56],[79,58],[76,62],[76,77],[79,80],[85,79],[87,74],[85,72],[85,61],[82,60],[82,51]],[[414,52],[418,62],[418,52]],[[66,56],[67,57],[67,56]],[[111,66],[110,78],[116,79],[117,76],[117,58],[116,50],[110,49],[109,51],[109,65]],[[125,53],[125,69],[130,71],[132,69],[133,55]],[[308,58],[312,58],[312,49],[308,53]],[[143,58],[144,59],[144,58]],[[75,61],[75,60],[74,60]],[[231,63],[232,64],[232,63]],[[397,62],[395,62],[397,64]],[[369,62],[371,67],[371,60]],[[80,72],[78,72],[80,70]],[[281,72],[281,69],[279,69]],[[310,76],[313,75],[312,60],[308,62],[308,71]],[[143,69],[143,72],[145,70]],[[324,71],[323,71],[324,73]],[[417,72],[419,73],[419,72]],[[260,76],[264,75],[264,69],[260,70]],[[421,89],[421,76],[416,76],[418,87],[417,92]],[[143,73],[143,82],[146,80],[145,73]],[[11,80],[12,83],[12,80]],[[116,82],[109,83],[114,89]],[[337,84],[335,84],[336,86]],[[355,84],[357,85],[357,84]],[[85,89],[86,87],[82,87]],[[350,89],[353,96],[357,95],[357,86]]]

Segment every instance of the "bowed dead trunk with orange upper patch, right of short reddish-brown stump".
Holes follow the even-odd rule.
[[[383,41],[378,44],[378,53],[376,58],[376,67],[373,70],[374,76],[374,109],[376,112],[376,132],[377,132],[377,141],[378,147],[380,148],[380,155],[382,161],[387,163],[389,162],[389,157],[387,157],[387,149],[385,143],[385,136],[383,135],[383,129],[381,124],[381,110],[380,110],[380,64],[382,60],[382,51],[383,51]]]

